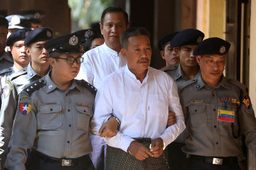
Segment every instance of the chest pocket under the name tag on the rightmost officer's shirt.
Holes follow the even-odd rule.
[[[207,126],[206,105],[203,103],[191,104],[188,107],[190,124],[193,127]]]

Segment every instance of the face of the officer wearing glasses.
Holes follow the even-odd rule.
[[[81,61],[81,53],[59,53],[55,58],[49,58],[52,71],[63,78],[63,81],[72,80],[77,76],[80,70]]]

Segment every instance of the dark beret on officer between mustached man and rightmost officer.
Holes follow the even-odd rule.
[[[204,33],[198,29],[184,29],[177,33],[177,35],[170,42],[171,47],[178,47],[182,45],[198,45],[204,39]]]

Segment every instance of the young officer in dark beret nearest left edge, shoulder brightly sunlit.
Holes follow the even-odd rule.
[[[13,67],[9,67],[0,71],[1,96],[7,78],[16,71],[27,67],[28,63],[31,60],[31,57],[27,55],[24,46],[24,39],[26,38],[28,32],[30,32],[31,30],[32,29],[30,28],[18,29],[14,31],[6,40],[6,45],[10,46],[11,53],[13,54],[14,65]]]

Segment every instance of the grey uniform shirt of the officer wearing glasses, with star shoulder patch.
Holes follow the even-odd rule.
[[[19,95],[6,168],[25,169],[27,149],[53,158],[79,158],[92,152],[88,131],[96,88],[73,80],[68,91],[49,74],[31,83]]]

